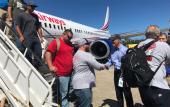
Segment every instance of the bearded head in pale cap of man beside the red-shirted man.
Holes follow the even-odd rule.
[[[90,48],[90,42],[83,38],[83,39],[79,39],[76,44],[79,46],[79,49],[80,50],[83,50],[83,51],[86,51],[86,52],[89,52],[89,48]]]

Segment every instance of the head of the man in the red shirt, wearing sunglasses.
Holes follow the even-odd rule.
[[[66,29],[63,32],[62,38],[63,38],[64,42],[70,43],[70,40],[73,38],[73,32],[70,29]]]

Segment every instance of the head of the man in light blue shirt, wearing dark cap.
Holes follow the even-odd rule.
[[[121,44],[121,37],[119,34],[115,34],[109,38],[115,47],[119,47]]]

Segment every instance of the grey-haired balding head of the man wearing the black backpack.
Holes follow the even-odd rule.
[[[150,25],[146,28],[145,36],[146,38],[157,39],[160,35],[160,29],[157,25]]]

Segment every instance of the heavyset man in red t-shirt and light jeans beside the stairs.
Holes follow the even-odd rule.
[[[73,68],[73,47],[70,42],[72,37],[72,31],[68,29],[65,30],[58,41],[54,39],[49,44],[45,53],[46,62],[50,71],[54,72],[59,78],[59,91],[61,95],[62,107],[69,107],[67,92]],[[57,85],[54,84],[53,87],[54,89],[57,89]],[[55,103],[57,102],[55,96],[53,101]]]

